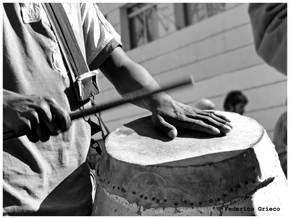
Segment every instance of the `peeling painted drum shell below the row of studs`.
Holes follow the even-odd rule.
[[[206,207],[149,208],[110,194],[98,185],[92,216],[285,216],[289,206],[287,180],[281,167],[278,169],[279,175],[277,177],[262,183],[243,197],[220,205]],[[229,210],[230,208],[231,210]],[[265,209],[262,210],[262,208]],[[270,208],[272,210],[269,210]],[[276,211],[273,208],[276,208]],[[278,208],[279,210],[277,210]]]

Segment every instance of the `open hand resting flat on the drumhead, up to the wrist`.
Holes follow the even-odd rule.
[[[231,121],[212,110],[199,110],[167,96],[151,106],[152,122],[168,137],[177,136],[176,127],[198,130],[212,135],[228,133],[232,129]]]

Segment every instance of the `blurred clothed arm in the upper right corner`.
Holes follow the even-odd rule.
[[[257,54],[287,75],[287,3],[250,3]]]

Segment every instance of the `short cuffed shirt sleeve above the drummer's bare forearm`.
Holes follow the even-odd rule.
[[[87,63],[90,70],[97,69],[117,46],[122,46],[120,35],[95,3],[81,4],[80,12]]]

